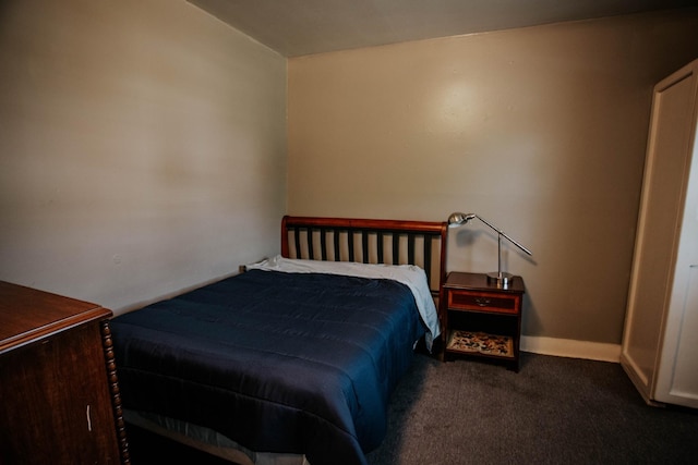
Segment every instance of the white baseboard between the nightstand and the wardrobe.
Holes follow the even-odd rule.
[[[520,348],[557,357],[621,363],[621,344],[521,335]]]

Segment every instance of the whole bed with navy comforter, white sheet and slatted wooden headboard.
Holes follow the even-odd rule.
[[[364,464],[440,336],[446,223],[285,217],[281,254],[110,322],[124,418],[231,462]]]

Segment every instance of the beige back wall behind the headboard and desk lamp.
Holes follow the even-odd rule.
[[[533,252],[504,250],[525,334],[617,344],[651,87],[696,57],[693,10],[291,59],[288,211],[480,213]],[[496,269],[452,232],[450,269]]]

